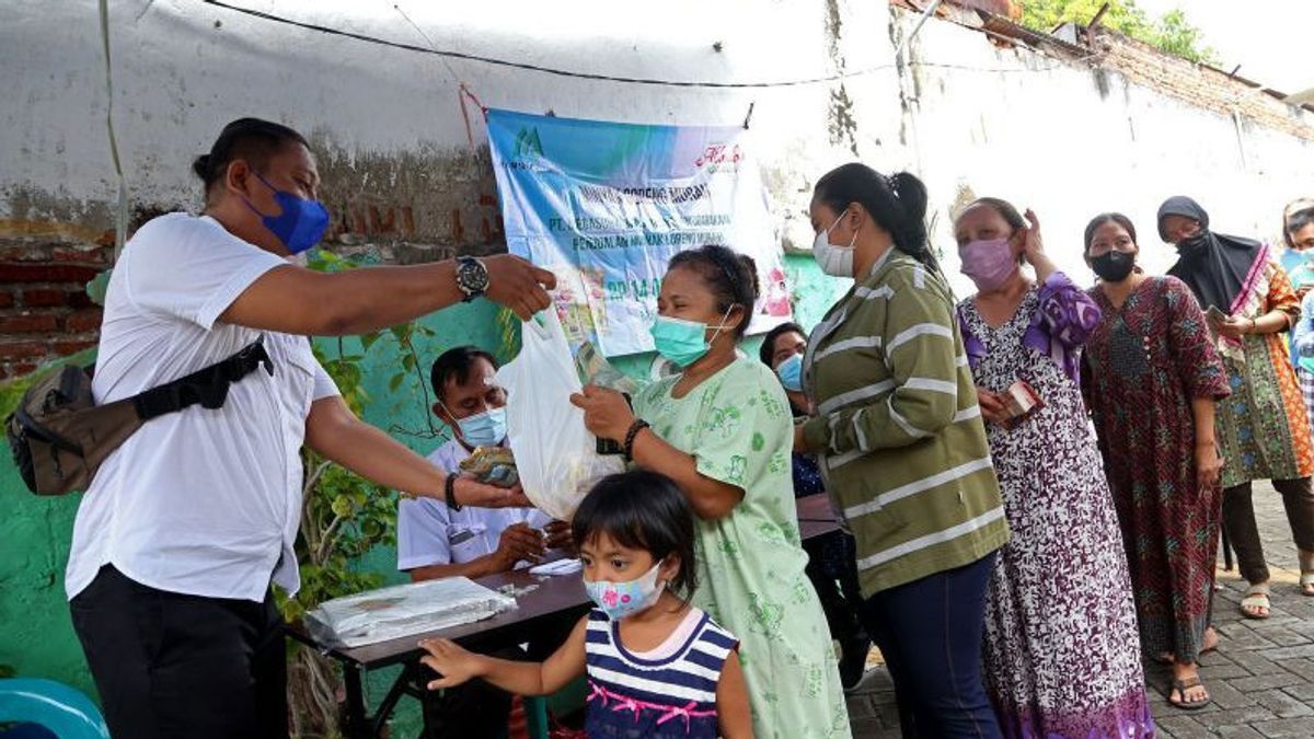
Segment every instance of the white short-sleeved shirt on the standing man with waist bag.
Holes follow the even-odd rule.
[[[124,247],[105,297],[92,391],[137,394],[219,362],[260,331],[217,323],[258,277],[286,266],[209,217],[171,213]],[[263,601],[271,579],[300,586],[300,450],[315,400],[338,394],[305,337],[265,333],[256,370],[223,408],[146,422],[96,473],[78,508],[66,590],[105,564],[175,593]]]

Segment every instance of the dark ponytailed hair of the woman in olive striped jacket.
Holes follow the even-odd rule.
[[[886,176],[853,162],[830,170],[817,180],[813,197],[837,216],[849,205],[861,204],[882,229],[890,231],[899,251],[940,271],[940,263],[926,242],[926,185],[915,175],[897,172]]]

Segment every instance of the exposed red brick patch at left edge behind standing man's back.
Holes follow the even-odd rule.
[[[108,245],[0,239],[0,381],[96,346],[100,308],[85,284]]]

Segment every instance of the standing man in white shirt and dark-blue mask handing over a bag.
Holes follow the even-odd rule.
[[[294,130],[229,124],[193,164],[205,213],[171,213],[124,247],[105,298],[99,402],[214,364],[261,335],[272,373],[219,409],[147,421],[92,480],[66,573],[74,627],[113,736],[286,736],[271,584],[296,592],[302,444],[381,485],[456,505],[524,506],[448,475],[357,419],[309,335],[378,330],[486,295],[527,318],[552,275],[514,256],[313,272],[319,175]]]

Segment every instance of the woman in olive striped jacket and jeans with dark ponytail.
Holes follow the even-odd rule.
[[[1008,523],[954,301],[926,245],[926,188],[845,164],[817,181],[813,255],[854,277],[808,341],[820,455],[858,540],[863,618],[904,735],[997,738],[982,686],[986,586]]]

